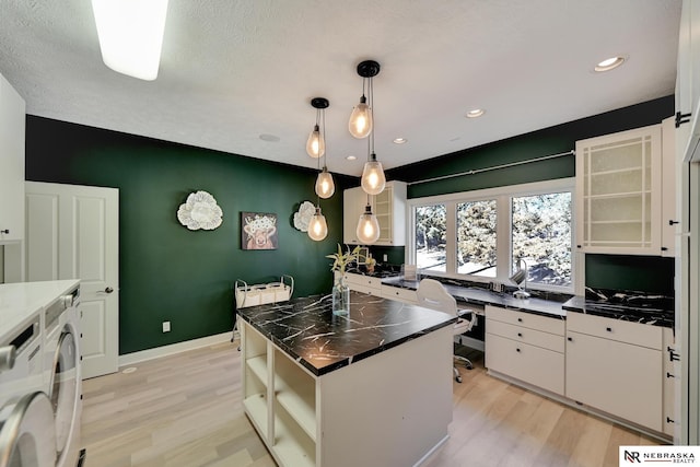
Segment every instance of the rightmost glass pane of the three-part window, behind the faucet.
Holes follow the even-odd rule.
[[[571,287],[571,192],[513,197],[511,252],[527,282]]]

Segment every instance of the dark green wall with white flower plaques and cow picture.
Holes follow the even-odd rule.
[[[315,171],[34,116],[26,179],[119,189],[120,354],[230,331],[236,279],[287,273],[294,296],[330,291],[325,255],[342,242],[342,189],[357,185],[335,176],[336,195],[320,202],[329,233],[313,242],[292,218],[301,201],[316,200]],[[177,221],[196,190],[217,199],[220,227],[189,231]],[[277,213],[278,249],[241,248],[242,211]]]

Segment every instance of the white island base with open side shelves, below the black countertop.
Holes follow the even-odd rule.
[[[243,319],[241,331],[243,405],[279,466],[418,465],[447,439],[451,327],[322,376]]]

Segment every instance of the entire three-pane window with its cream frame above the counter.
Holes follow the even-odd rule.
[[[406,262],[424,273],[510,283],[525,260],[527,287],[572,292],[574,179],[411,199]]]

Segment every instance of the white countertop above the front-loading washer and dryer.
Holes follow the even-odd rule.
[[[78,279],[0,284],[0,342],[80,283]]]

